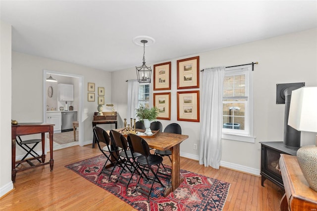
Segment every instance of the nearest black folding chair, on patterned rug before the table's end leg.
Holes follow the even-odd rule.
[[[141,170],[141,173],[140,173],[135,191],[138,191],[140,193],[147,195],[147,198],[148,198],[147,202],[150,202],[149,198],[150,198],[151,191],[153,189],[154,182],[158,182],[162,187],[165,187],[163,185],[163,183],[159,180],[159,177],[158,177],[159,164],[161,164],[161,162],[163,161],[163,158],[158,156],[158,155],[150,154],[150,148],[149,148],[148,143],[140,136],[137,136],[134,134],[129,134],[128,135],[128,143],[129,143],[130,150],[132,153],[140,153],[141,154],[141,156],[136,159],[137,160],[137,168],[139,168]],[[155,171],[155,169],[153,169],[153,167],[152,167],[153,165],[158,166],[156,171]],[[149,177],[148,175],[146,175],[144,173],[145,168],[147,168],[149,171],[152,172],[152,174],[154,175],[153,178]],[[132,173],[132,176],[135,173],[136,169]],[[131,176],[131,178],[132,178],[132,176]],[[130,178],[130,180],[131,180],[131,178]],[[151,188],[148,188],[146,185],[141,184],[140,183],[141,178],[146,179],[148,181],[152,181]]]

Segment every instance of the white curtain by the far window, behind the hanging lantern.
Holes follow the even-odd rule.
[[[138,105],[139,82],[138,80],[128,81],[128,107],[126,119],[136,118],[135,109]]]

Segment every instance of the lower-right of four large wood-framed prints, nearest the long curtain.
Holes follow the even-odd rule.
[[[177,92],[177,120],[199,122],[199,91]]]

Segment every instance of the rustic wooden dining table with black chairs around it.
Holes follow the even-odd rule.
[[[120,131],[122,129],[118,129]],[[158,132],[154,136],[141,136],[149,147],[157,150],[170,150],[172,152],[171,183],[164,191],[164,197],[178,188],[184,177],[180,175],[180,143],[188,139],[188,135]]]

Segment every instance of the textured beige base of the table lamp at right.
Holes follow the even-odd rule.
[[[298,149],[297,160],[309,186],[317,191],[317,143],[316,146],[310,145]]]

